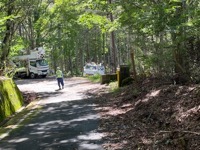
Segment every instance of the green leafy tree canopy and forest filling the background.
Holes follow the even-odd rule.
[[[2,10],[7,10],[6,4],[0,3]],[[0,41],[6,35],[6,21],[15,26],[12,39],[4,43],[10,49],[4,47],[0,56],[41,45],[48,50],[50,67],[62,66],[72,76],[80,75],[84,64],[91,61],[104,62],[111,70],[113,32],[117,65],[130,63],[134,51],[138,73],[173,74],[176,62],[188,71],[198,66],[199,1],[32,0],[22,5],[16,0],[14,4],[21,7],[14,7],[10,15],[0,13]]]

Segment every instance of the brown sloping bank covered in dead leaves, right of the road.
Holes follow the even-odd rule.
[[[199,150],[200,85],[174,85],[149,78],[105,93],[99,100],[107,150]]]

